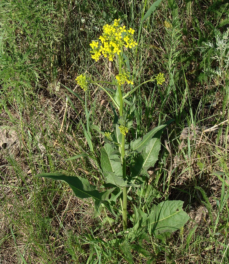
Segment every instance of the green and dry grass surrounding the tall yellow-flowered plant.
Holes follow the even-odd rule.
[[[146,1],[145,12],[151,4]],[[117,18],[137,39],[143,8],[135,0],[1,2],[0,263],[229,263],[229,44],[217,40],[229,25],[227,3],[162,1],[142,24],[137,54],[126,53],[135,85],[159,72],[166,76],[165,85],[148,82],[135,92],[138,136],[174,120],[162,135],[151,184],[132,203],[143,210],[166,196],[185,201],[191,218],[183,229],[132,243],[115,239],[120,227],[113,222],[112,229],[105,213],[94,218],[91,200],[78,200],[62,182],[33,177],[55,171],[102,185],[103,138],[90,130],[91,153],[85,94],[75,78],[87,71],[111,80],[112,64],[95,63],[89,43]],[[108,130],[112,109],[96,88],[87,109],[92,123]],[[84,153],[94,162],[66,161]]]

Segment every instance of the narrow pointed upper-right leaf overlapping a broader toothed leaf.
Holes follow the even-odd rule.
[[[162,131],[166,125],[161,125],[159,127],[155,127],[149,133],[145,134],[141,140],[140,137],[138,139],[135,139],[134,141],[131,141],[130,146],[131,150],[135,152],[142,152],[142,149],[145,148],[148,144],[149,141],[152,139],[152,137],[155,135],[156,137],[160,138]]]

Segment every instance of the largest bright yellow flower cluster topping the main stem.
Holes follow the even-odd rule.
[[[109,61],[113,61],[115,54],[121,53],[121,48],[132,48],[137,45],[133,39],[134,30],[130,27],[128,30],[125,26],[120,26],[120,19],[115,19],[112,25],[103,26],[102,36],[99,37],[101,43],[92,41],[91,57],[97,61],[101,55],[108,57]]]

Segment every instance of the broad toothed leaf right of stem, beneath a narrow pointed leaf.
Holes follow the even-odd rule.
[[[130,165],[130,170],[133,177],[138,175],[148,175],[147,170],[153,167],[158,160],[158,154],[161,149],[161,142],[158,138],[152,138],[148,145],[142,150],[134,162]]]

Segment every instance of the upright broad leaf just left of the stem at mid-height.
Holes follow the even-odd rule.
[[[111,144],[104,144],[104,147],[101,148],[101,168],[106,178],[109,173],[122,176],[121,158],[117,154],[119,152],[115,152]]]

